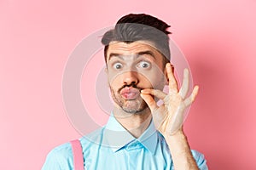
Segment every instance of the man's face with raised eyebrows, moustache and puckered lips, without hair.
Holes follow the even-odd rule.
[[[148,108],[140,90],[163,89],[165,85],[162,55],[148,42],[111,42],[107,69],[113,100],[127,113]]]

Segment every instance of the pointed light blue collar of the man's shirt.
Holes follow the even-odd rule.
[[[104,128],[102,143],[104,145],[108,145],[114,152],[116,152],[125,147],[126,144],[131,143],[131,141],[137,140],[154,154],[158,139],[157,137],[157,131],[152,120],[145,132],[136,139],[131,135],[131,133],[125,130],[125,127],[123,127],[115,119],[113,114],[111,114],[109,116],[108,123]]]

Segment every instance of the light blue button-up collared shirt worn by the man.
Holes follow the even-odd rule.
[[[82,144],[86,170],[174,169],[166,140],[156,131],[152,121],[147,130],[136,139],[112,115],[105,127],[79,140]],[[204,156],[198,151],[191,151],[198,167],[207,170]],[[73,169],[71,144],[62,144],[51,150],[42,169]]]

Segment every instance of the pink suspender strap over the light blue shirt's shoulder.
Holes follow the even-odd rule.
[[[70,141],[73,151],[73,167],[74,170],[84,170],[84,156],[82,146],[79,139]]]

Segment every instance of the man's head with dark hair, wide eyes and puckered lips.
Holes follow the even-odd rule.
[[[147,14],[128,14],[102,37],[111,94],[123,111],[144,111],[148,105],[140,90],[164,87],[170,60],[168,27]]]

